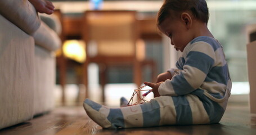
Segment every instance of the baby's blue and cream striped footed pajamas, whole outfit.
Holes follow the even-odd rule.
[[[218,123],[231,91],[221,45],[213,38],[197,37],[185,47],[176,66],[169,70],[172,79],[160,85],[160,97],[116,109],[87,99],[88,116],[104,128]]]

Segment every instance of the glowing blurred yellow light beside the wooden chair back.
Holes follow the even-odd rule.
[[[86,61],[86,50],[83,40],[66,40],[63,45],[65,57],[83,63]]]

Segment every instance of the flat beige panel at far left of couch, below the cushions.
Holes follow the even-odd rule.
[[[0,15],[0,24],[0,129],[2,129],[33,118],[34,39],[2,15]]]

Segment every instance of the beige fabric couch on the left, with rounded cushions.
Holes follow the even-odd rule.
[[[47,21],[47,24],[42,20]],[[0,129],[54,108],[54,17],[39,17],[28,0],[0,1]],[[54,24],[54,25],[51,25]],[[60,28],[60,27],[59,27]]]

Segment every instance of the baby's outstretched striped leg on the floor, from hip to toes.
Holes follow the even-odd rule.
[[[83,106],[88,116],[103,128],[209,123],[204,105],[195,95],[160,96],[147,103],[116,109],[87,99]]]

